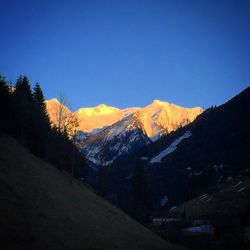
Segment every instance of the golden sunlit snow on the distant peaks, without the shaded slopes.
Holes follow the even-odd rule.
[[[53,123],[55,115],[53,110],[59,105],[57,99],[46,101],[48,114]],[[67,110],[67,112],[70,112]],[[203,110],[199,107],[184,108],[172,103],[154,100],[143,108],[119,109],[100,104],[96,107],[80,108],[76,114],[79,121],[79,130],[91,132],[97,128],[110,126],[129,115],[134,115],[148,137],[152,138],[161,133],[169,133],[180,126],[192,122]]]

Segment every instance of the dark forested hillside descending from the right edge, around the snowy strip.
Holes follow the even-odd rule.
[[[228,177],[244,174],[250,166],[249,100],[247,88],[139,153],[152,159],[186,131],[192,134],[160,162],[147,163],[155,203],[167,195],[174,205]]]

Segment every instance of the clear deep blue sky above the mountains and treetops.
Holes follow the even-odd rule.
[[[0,0],[0,73],[73,110],[221,104],[250,84],[250,1]]]

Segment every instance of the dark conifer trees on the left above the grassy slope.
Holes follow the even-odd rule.
[[[31,88],[29,79],[20,76],[14,86],[0,75],[0,134],[14,136],[36,156],[75,176],[84,171],[84,158],[76,149],[72,135],[50,123],[39,83]],[[72,129],[71,129],[72,131]]]

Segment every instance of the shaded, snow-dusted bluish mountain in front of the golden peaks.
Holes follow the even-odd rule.
[[[132,114],[79,143],[85,157],[96,165],[111,165],[151,140]]]

